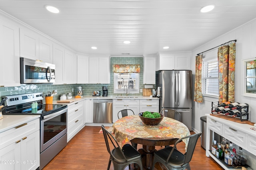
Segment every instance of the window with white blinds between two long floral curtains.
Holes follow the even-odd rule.
[[[202,63],[202,93],[206,96],[219,95],[218,59],[204,60]]]

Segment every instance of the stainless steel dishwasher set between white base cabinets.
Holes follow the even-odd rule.
[[[112,99],[93,100],[93,123],[112,123]]]

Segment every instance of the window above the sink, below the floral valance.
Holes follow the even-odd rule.
[[[114,73],[114,93],[139,93],[139,73]]]

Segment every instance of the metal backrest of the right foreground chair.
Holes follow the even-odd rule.
[[[197,143],[197,140],[198,138],[200,137],[200,135],[202,134],[202,132],[199,132],[199,133],[195,133],[193,135],[189,135],[189,136],[186,136],[186,137],[182,137],[180,139],[178,139],[178,141],[176,141],[176,143],[174,144],[174,147],[172,148],[167,160],[166,160],[166,164],[168,163],[171,155],[172,155],[172,152],[174,151],[174,149],[176,149],[176,145],[178,143],[180,143],[183,139],[188,139],[188,147],[187,147],[187,151],[186,151],[186,154],[185,154],[185,160],[184,160],[184,164],[187,164],[190,162],[192,156],[193,156],[193,153],[194,153],[194,150],[195,150],[195,147],[196,147],[196,143]]]

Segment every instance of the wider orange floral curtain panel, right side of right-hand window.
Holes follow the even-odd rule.
[[[236,43],[218,48],[220,103],[235,100],[235,59]]]

